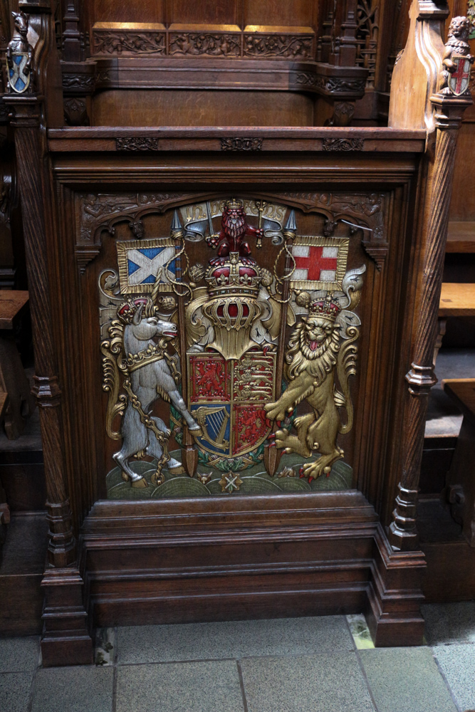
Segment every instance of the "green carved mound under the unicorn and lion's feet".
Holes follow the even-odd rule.
[[[179,450],[170,453],[176,459],[180,459]],[[318,459],[318,458],[315,458]],[[141,474],[148,483],[148,487],[134,488],[130,483],[122,480],[122,471],[115,467],[108,473],[106,478],[109,499],[164,499],[181,497],[208,497],[208,496],[236,496],[236,495],[259,495],[259,494],[281,494],[288,492],[322,492],[350,489],[352,486],[353,468],[345,462],[339,460],[333,465],[328,477],[319,477],[310,484],[306,479],[298,476],[298,471],[304,462],[301,457],[295,454],[283,455],[279,472],[283,468],[293,470],[296,476],[274,477],[268,476],[263,468],[263,464],[256,464],[239,473],[231,473],[228,480],[224,481],[227,486],[226,491],[222,491],[220,481],[226,478],[226,473],[217,469],[206,468],[199,465],[197,474],[192,478],[187,474],[176,475],[163,469],[165,482],[156,486],[152,484],[151,478],[155,473],[157,461],[135,461],[130,463],[130,467],[137,474]],[[209,475],[211,478],[206,483],[199,480],[199,475]],[[233,482],[234,477],[237,479]],[[241,481],[239,483],[239,481]]]

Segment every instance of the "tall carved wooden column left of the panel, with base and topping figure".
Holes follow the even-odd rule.
[[[15,135],[35,352],[33,394],[39,407],[48,496],[48,564],[42,581],[46,602],[41,645],[44,665],[87,663],[92,661],[92,642],[85,629],[87,614],[83,607],[83,580],[76,566],[77,545],[68,501],[61,387],[54,341],[55,317],[49,285],[55,251],[54,204],[43,121],[51,81],[48,66],[54,68],[50,61],[56,44],[51,8],[46,0],[40,6],[22,3],[20,7],[29,13],[30,23],[41,27],[36,46],[28,46],[33,54],[28,89],[18,93],[10,87],[10,93],[5,96],[6,105],[13,114],[11,125]],[[13,54],[19,51],[14,45],[18,41],[15,37],[11,41]],[[50,55],[47,60],[43,53]],[[50,102],[61,101],[61,94],[59,97],[54,95],[54,83],[52,86],[48,96]],[[60,650],[58,641],[61,639],[64,645]]]

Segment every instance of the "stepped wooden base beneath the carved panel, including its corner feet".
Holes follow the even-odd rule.
[[[80,541],[95,626],[366,612],[377,645],[422,642],[424,555],[393,552],[357,491],[101,501]],[[90,662],[85,609],[70,639],[48,586],[45,664]]]

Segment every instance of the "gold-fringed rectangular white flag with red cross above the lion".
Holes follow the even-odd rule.
[[[292,245],[295,263],[291,287],[340,289],[348,260],[348,244],[348,239],[296,236]]]

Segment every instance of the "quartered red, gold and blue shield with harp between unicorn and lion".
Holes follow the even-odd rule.
[[[230,459],[258,448],[271,432],[264,405],[276,397],[276,354],[251,350],[226,361],[212,350],[187,358],[188,407],[202,428],[199,449]]]

